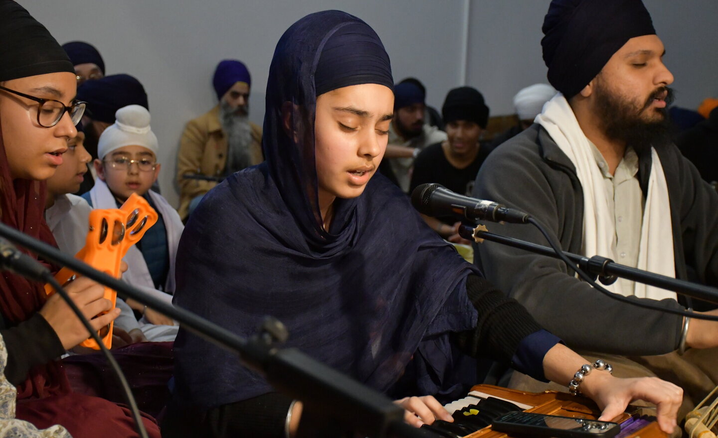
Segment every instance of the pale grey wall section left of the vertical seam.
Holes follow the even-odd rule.
[[[74,0],[24,1],[53,36],[98,47],[108,74],[129,73],[149,95],[152,127],[163,164],[162,194],[177,206],[174,176],[182,129],[216,103],[211,80],[220,59],[246,62],[252,74],[250,118],[264,118],[266,76],[276,42],[290,24],[324,9],[364,19],[391,54],[397,80],[412,75],[430,83],[439,105],[459,82],[460,1],[392,0]],[[425,48],[432,53],[426,57]]]

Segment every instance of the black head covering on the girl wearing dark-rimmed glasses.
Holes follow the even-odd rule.
[[[75,73],[65,50],[22,6],[0,0],[0,81],[57,72]]]

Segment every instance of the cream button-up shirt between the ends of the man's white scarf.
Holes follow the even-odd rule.
[[[608,163],[598,148],[589,141],[596,164],[601,171],[606,188],[608,208],[615,226],[616,234],[611,244],[613,254],[610,258],[621,265],[638,265],[640,229],[643,225],[643,192],[638,182],[638,155],[633,148],[626,148],[623,160],[618,163],[615,174],[608,171]],[[591,255],[591,254],[587,254]],[[621,287],[633,294],[634,282],[619,278]]]

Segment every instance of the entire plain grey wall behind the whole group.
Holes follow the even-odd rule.
[[[676,76],[676,104],[696,108],[705,97],[718,97],[718,1],[644,1]],[[60,43],[91,42],[108,74],[129,73],[144,84],[161,145],[160,186],[174,206],[180,135],[187,120],[215,105],[216,63],[246,62],[250,118],[261,125],[274,46],[305,14],[341,9],[364,19],[383,40],[394,78],[418,77],[427,103],[437,108],[465,82],[485,95],[493,115],[513,113],[511,99],[521,87],[546,82],[540,40],[548,0],[21,2]]]

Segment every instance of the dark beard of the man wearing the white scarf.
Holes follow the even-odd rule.
[[[653,99],[666,95],[666,108],[651,108]],[[601,128],[605,135],[613,141],[625,143],[632,147],[638,155],[650,151],[651,146],[660,148],[671,142],[673,123],[668,116],[668,106],[673,102],[673,90],[660,87],[648,97],[640,110],[635,103],[616,96],[600,82],[595,87],[596,111]],[[649,111],[660,115],[655,120],[645,120],[641,116]]]

